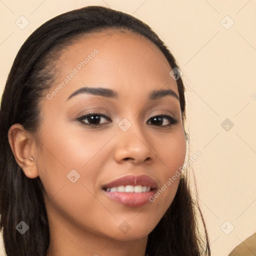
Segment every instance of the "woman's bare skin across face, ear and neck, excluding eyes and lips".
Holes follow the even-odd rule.
[[[94,48],[98,53],[68,84],[52,99],[41,99],[39,130],[32,135],[14,124],[9,142],[25,175],[39,176],[43,183],[50,227],[47,256],[144,256],[147,235],[171,204],[179,177],[154,202],[139,207],[110,200],[101,186],[122,176],[146,174],[159,189],[183,164],[186,145],[179,100],[172,95],[148,100],[152,90],[172,89],[178,95],[177,85],[152,42],[128,31],[106,30],[82,36],[61,52],[56,82],[47,93]],[[67,99],[85,86],[109,88],[119,97],[81,93]],[[76,120],[91,111],[111,122],[101,117],[101,126],[89,127]],[[148,123],[161,114],[173,116],[177,123]],[[118,126],[123,118],[131,123],[125,132]],[[165,124],[169,121],[163,118]],[[72,169],[80,175],[74,183],[67,178]],[[123,221],[130,226],[127,233],[118,228]]]

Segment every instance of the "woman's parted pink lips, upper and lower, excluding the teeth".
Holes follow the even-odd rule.
[[[146,185],[150,186],[151,190],[148,192],[118,192],[118,191],[106,191],[105,189],[113,186],[125,186],[125,185]],[[133,176],[127,175],[118,178],[110,183],[102,186],[104,194],[111,200],[123,204],[129,207],[139,207],[149,202],[149,197],[153,196],[157,189],[157,183],[155,180],[147,175]]]

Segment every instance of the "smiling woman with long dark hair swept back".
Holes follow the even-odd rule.
[[[210,254],[177,70],[148,25],[110,8],[63,13],[28,37],[0,109],[7,256]]]

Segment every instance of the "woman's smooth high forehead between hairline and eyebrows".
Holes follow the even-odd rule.
[[[126,95],[136,91],[140,96],[161,88],[177,92],[176,82],[169,75],[171,67],[160,49],[128,30],[82,35],[61,50],[59,60],[56,84],[76,73],[61,93],[65,96],[84,86],[111,88]]]

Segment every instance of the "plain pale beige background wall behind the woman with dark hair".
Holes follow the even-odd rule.
[[[0,0],[0,92],[27,36],[49,18],[86,5],[142,19],[180,64],[191,155],[201,151],[193,169],[212,255],[227,255],[256,231],[256,1]],[[15,24],[21,15],[29,21],[24,29]],[[227,131],[226,118],[234,124]]]

